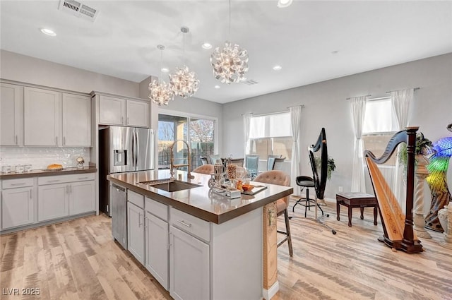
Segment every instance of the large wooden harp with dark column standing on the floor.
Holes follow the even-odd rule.
[[[412,206],[415,186],[415,148],[416,132],[419,127],[407,127],[404,131],[396,133],[389,140],[386,150],[381,157],[376,158],[369,151],[364,151],[367,168],[369,169],[372,186],[379,205],[381,223],[383,224],[383,236],[379,241],[383,241],[391,248],[405,251],[407,253],[419,253],[422,251],[422,245],[417,239],[412,226]],[[396,196],[391,191],[390,186],[381,174],[378,167],[384,164],[393,155],[398,144],[407,144],[407,174],[406,174],[406,206],[405,213],[398,204]]]

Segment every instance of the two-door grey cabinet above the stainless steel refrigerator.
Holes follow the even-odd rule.
[[[100,124],[149,127],[149,103],[100,96]]]

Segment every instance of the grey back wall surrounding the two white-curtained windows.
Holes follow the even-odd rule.
[[[451,136],[446,126],[452,122],[452,54],[444,54],[224,104],[223,153],[243,156],[244,112],[282,112],[304,104],[300,128],[302,174],[311,174],[307,147],[325,127],[328,154],[337,166],[328,181],[326,197],[335,198],[338,186],[350,191],[352,177],[354,134],[346,98],[369,94],[385,97],[386,91],[417,87],[420,90],[415,92],[410,125],[420,126],[420,131],[432,141]]]

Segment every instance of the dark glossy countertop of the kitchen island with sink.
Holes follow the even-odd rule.
[[[167,192],[153,188],[152,186],[140,184],[142,181],[167,179],[169,178],[169,170],[110,174],[107,176],[107,179],[114,184],[129,188],[131,191],[148,196],[153,200],[171,205],[178,210],[216,224],[232,220],[234,217],[244,215],[246,212],[261,208],[268,203],[272,203],[293,193],[293,188],[290,186],[277,186],[274,184],[254,182],[254,185],[265,185],[268,188],[256,193],[254,196],[242,195],[241,198],[228,199],[216,193],[209,193],[208,180],[210,179],[210,175],[191,173],[195,178],[187,180],[186,172],[177,171],[175,177],[178,178],[179,174],[182,174],[182,181],[188,181],[201,186],[182,191]]]

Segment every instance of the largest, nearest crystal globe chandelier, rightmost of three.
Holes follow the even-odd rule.
[[[229,34],[231,35],[231,0],[229,1]],[[239,83],[248,71],[248,52],[238,44],[226,41],[225,47],[216,47],[210,55],[213,76],[221,83]]]

